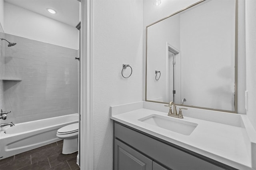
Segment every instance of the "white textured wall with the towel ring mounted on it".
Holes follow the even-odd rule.
[[[142,101],[142,0],[93,1],[94,170],[112,170],[110,106]],[[133,73],[124,79],[122,64]]]

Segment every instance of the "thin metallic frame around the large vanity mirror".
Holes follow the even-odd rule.
[[[209,0],[200,0],[182,10],[179,10],[178,12],[175,12],[165,18],[162,18],[148,26],[146,26],[146,75],[145,75],[145,79],[146,79],[146,83],[145,83],[145,101],[148,101],[148,102],[154,102],[154,103],[163,103],[163,104],[169,104],[169,103],[166,103],[166,102],[159,102],[159,101],[150,101],[150,100],[147,100],[147,61],[148,61],[148,27],[149,26],[152,26],[162,20],[165,20],[166,18],[169,18],[171,16],[174,16],[175,14],[178,14],[188,8],[191,8],[193,6],[196,6],[197,4],[200,4],[202,2],[208,2]],[[221,112],[228,112],[228,113],[237,113],[238,111],[238,88],[237,88],[237,85],[238,85],[238,0],[234,0],[235,1],[235,84],[234,84],[234,88],[235,88],[235,93],[234,93],[234,111],[229,111],[229,110],[222,110],[222,109],[213,109],[213,108],[208,108],[208,107],[197,107],[197,106],[190,106],[190,105],[181,105],[181,104],[176,104],[176,106],[184,106],[184,107],[191,107],[191,108],[197,108],[197,109],[206,109],[206,110],[212,110],[212,111],[221,111]]]

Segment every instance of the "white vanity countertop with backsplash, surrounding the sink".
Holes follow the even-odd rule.
[[[190,135],[184,135],[138,120],[154,114],[178,119],[167,116],[169,108],[164,104],[142,101],[110,108],[115,121],[234,168],[255,169],[256,133],[246,115],[188,108],[182,111],[184,119],[180,120],[198,125]]]

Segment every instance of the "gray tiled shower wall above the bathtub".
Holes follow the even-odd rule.
[[[8,122],[34,121],[78,113],[77,49],[5,34],[4,106]],[[68,41],[68,40],[67,40]]]

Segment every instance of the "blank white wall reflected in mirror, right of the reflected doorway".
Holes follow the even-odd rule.
[[[186,105],[234,111],[235,1],[212,0],[189,10],[180,15],[180,28]]]

